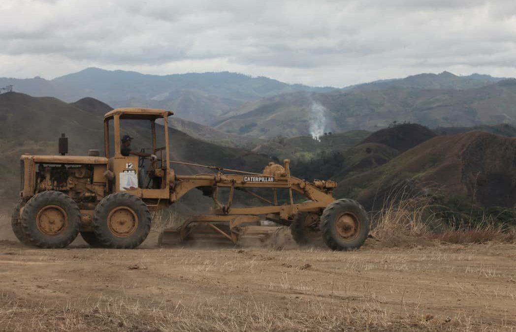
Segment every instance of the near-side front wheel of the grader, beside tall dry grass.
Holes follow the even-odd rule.
[[[322,239],[332,250],[360,248],[369,235],[369,227],[367,213],[357,201],[334,201],[321,215]]]

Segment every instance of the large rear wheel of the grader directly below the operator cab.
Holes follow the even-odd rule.
[[[134,248],[151,230],[151,213],[140,198],[129,193],[110,194],[95,208],[93,229],[99,242],[110,248]]]

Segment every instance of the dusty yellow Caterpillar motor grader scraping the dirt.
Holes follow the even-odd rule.
[[[169,146],[168,117],[172,114],[147,108],[119,108],[106,113],[104,156],[98,150],[90,150],[88,156],[66,155],[68,141],[64,135],[59,138],[59,155],[22,155],[21,200],[12,215],[17,238],[31,246],[62,248],[80,233],[94,247],[134,248],[149,234],[150,212],[168,208],[192,189],[211,197],[213,208],[165,230],[160,238],[174,234],[187,241],[196,228],[203,226],[238,244],[246,227],[256,227],[264,220],[290,226],[299,244],[320,240],[332,250],[358,248],[367,238],[369,221],[362,206],[352,200],[335,201],[333,181],[309,182],[292,176],[289,160],[283,165],[270,162],[261,173],[170,160],[173,146]],[[150,124],[154,156],[144,172],[147,181],[141,180],[141,160],[121,154],[121,120]],[[157,131],[163,131],[159,134],[164,137],[164,146],[157,146]],[[171,165],[191,165],[207,171],[180,175]],[[222,190],[225,195],[219,194]],[[236,193],[251,195],[263,204],[233,206]],[[305,199],[295,200],[295,193]]]

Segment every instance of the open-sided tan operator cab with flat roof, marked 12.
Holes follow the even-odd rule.
[[[142,198],[169,198],[168,117],[172,114],[162,109],[117,108],[104,115],[104,153],[112,173],[112,192],[126,191]],[[139,146],[150,147],[151,151],[142,153],[155,155],[157,159],[146,162],[144,157],[123,156],[121,139],[127,134],[135,137]],[[148,166],[144,169],[146,163]]]

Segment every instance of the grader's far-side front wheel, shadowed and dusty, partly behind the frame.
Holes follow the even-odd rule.
[[[292,238],[300,246],[321,245],[322,233],[319,224],[318,214],[299,212],[291,224]]]

